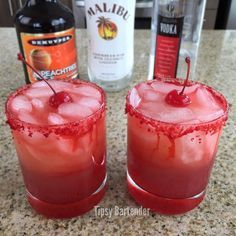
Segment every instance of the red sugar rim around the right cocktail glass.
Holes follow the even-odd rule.
[[[177,78],[176,79],[174,79],[174,78],[157,79],[157,81],[159,81],[159,82],[161,81],[163,83],[171,83],[171,84],[178,85],[178,86],[183,86],[183,82],[184,82],[184,80],[177,79]],[[140,84],[151,85],[152,83],[156,83],[156,80],[138,83],[132,89],[137,88]],[[202,87],[206,88],[210,93],[213,94],[213,96],[218,100],[218,102],[220,104],[222,104],[222,107],[224,109],[224,114],[222,116],[220,116],[212,121],[193,123],[193,124],[184,124],[184,123],[179,124],[179,123],[170,123],[170,122],[163,122],[163,121],[155,120],[153,118],[143,115],[140,111],[138,111],[135,107],[133,107],[130,104],[129,98],[130,98],[130,94],[131,94],[132,89],[129,90],[129,92],[126,96],[125,112],[130,114],[131,116],[135,116],[136,118],[138,118],[140,120],[140,123],[145,123],[147,125],[151,125],[155,129],[156,132],[162,132],[166,136],[168,136],[169,138],[172,138],[172,139],[192,133],[193,131],[203,131],[206,133],[215,133],[217,130],[221,129],[221,127],[223,125],[226,124],[226,121],[228,119],[229,105],[228,105],[225,97],[221,93],[215,91],[213,88],[211,88],[207,85],[204,85],[202,83],[195,82],[195,81],[188,81],[186,87],[189,87],[189,86],[192,86],[195,84],[199,84]]]

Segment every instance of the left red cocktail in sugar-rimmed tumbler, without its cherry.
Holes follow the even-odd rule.
[[[6,116],[30,204],[48,217],[72,217],[105,193],[105,97],[91,83],[49,83],[72,101],[51,106],[52,90],[36,82],[9,96]]]

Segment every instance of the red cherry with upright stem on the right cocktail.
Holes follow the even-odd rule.
[[[186,107],[191,103],[190,97],[184,93],[184,89],[188,83],[189,72],[190,72],[190,58],[186,57],[185,62],[188,65],[187,76],[184,81],[184,86],[181,91],[172,90],[170,91],[165,98],[165,101],[175,107]]]

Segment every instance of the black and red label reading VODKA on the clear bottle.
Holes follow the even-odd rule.
[[[154,76],[175,78],[184,17],[159,15],[158,22]]]

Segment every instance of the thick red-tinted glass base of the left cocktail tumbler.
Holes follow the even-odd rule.
[[[106,179],[107,178],[104,179],[101,186],[92,195],[78,202],[68,204],[52,204],[41,201],[28,191],[27,198],[35,211],[46,216],[47,218],[71,218],[90,211],[102,200],[107,189]]]

